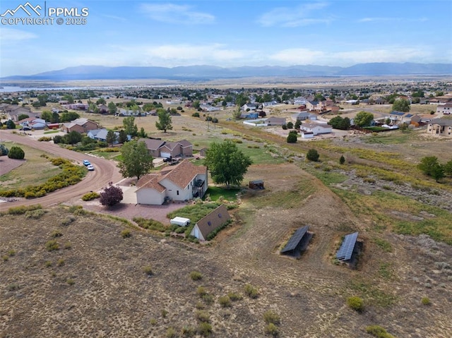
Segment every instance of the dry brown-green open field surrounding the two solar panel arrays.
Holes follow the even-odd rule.
[[[170,328],[190,337],[182,332],[200,325],[206,313],[199,310],[212,337],[268,337],[266,310],[280,315],[280,337],[370,337],[367,325],[399,338],[451,336],[452,182],[436,183],[416,168],[427,155],[451,159],[444,157],[451,140],[394,131],[289,145],[223,114],[214,128],[187,111],[173,117],[168,133],[155,129],[154,116],[136,119],[153,137],[186,138],[195,150],[231,138],[254,160],[244,186],[263,179],[266,189],[242,187],[234,222],[208,245],[69,207],[82,204],[77,198],[43,215],[0,217],[3,337],[170,337]],[[321,162],[304,161],[313,147]],[[121,217],[132,219],[133,209]],[[297,260],[279,255],[303,225],[314,234],[307,251]],[[356,270],[333,259],[352,231],[364,243]],[[46,250],[52,239],[59,250]],[[246,296],[246,284],[257,298]],[[201,298],[198,286],[210,296]],[[222,307],[230,292],[242,299]],[[364,300],[362,313],[347,307],[349,296]]]

